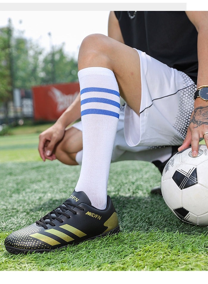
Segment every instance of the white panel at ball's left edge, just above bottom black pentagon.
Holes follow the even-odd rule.
[[[181,202],[181,190],[176,183],[170,180],[162,180],[161,182],[162,196],[165,202],[172,208],[178,208],[182,206]]]

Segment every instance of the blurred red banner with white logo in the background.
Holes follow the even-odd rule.
[[[79,83],[34,86],[34,119],[56,121],[79,93]]]

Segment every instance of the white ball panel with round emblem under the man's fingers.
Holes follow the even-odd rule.
[[[191,147],[181,153],[182,163],[187,163],[197,166],[200,163],[204,162],[204,160],[208,160],[208,151],[206,145],[199,145],[197,157],[192,156]]]

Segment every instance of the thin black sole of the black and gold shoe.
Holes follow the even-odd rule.
[[[101,235],[97,235],[97,236],[92,237],[92,238],[88,238],[88,239],[86,239],[86,240],[84,240],[84,241],[89,241],[89,240],[93,240],[93,239],[95,239],[95,238],[105,237],[105,236],[107,236],[107,235],[118,234],[119,231],[120,231],[120,227],[118,226],[118,227],[116,227],[115,229],[113,229],[113,230],[111,230],[111,231],[109,231],[109,232],[103,233],[103,234],[101,234]],[[84,241],[73,242],[73,243],[71,243],[71,244],[68,244],[68,245],[65,245],[65,246],[61,246],[61,247],[56,248],[56,249],[62,249],[63,247],[67,247],[67,246],[69,246],[69,245],[76,245],[76,244],[82,243],[82,242],[84,242]],[[19,254],[19,253],[21,253],[21,254],[26,254],[26,253],[28,253],[28,252],[40,252],[40,253],[43,253],[43,252],[51,252],[51,251],[56,250],[56,249],[40,249],[40,250],[28,249],[28,250],[27,250],[27,249],[18,249],[18,248],[14,248],[14,247],[11,247],[11,246],[6,246],[6,245],[5,245],[5,248],[6,248],[6,250],[7,250],[8,252],[13,253],[13,254],[16,254],[16,255]]]

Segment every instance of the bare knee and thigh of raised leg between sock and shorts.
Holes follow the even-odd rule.
[[[112,70],[120,96],[139,115],[141,98],[140,57],[135,49],[105,35],[87,36],[79,49],[79,70],[104,67]]]

